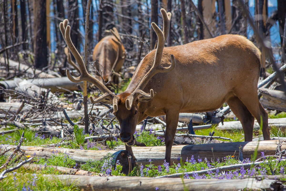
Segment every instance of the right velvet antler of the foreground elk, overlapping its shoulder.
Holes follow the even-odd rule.
[[[153,92],[153,89],[150,89],[150,94],[145,93],[142,91],[144,87],[147,85],[149,80],[157,73],[159,72],[170,72],[173,70],[176,66],[176,60],[174,58],[174,55],[171,55],[171,65],[169,67],[162,67],[160,65],[161,63],[161,58],[162,58],[162,53],[164,49],[165,42],[167,40],[167,36],[169,33],[169,28],[170,28],[170,20],[172,14],[170,12],[166,12],[165,9],[160,9],[162,17],[163,17],[163,31],[156,25],[156,23],[152,22],[152,28],[157,34],[158,37],[158,44],[157,44],[157,50],[155,53],[155,59],[154,59],[154,64],[152,68],[145,74],[145,76],[142,78],[140,84],[137,86],[137,88],[127,97],[126,99],[126,108],[128,110],[131,109],[132,103],[134,101],[134,98],[136,98],[139,94],[141,94],[144,98],[150,98],[152,99],[156,92]],[[149,100],[150,100],[149,99]],[[146,100],[148,101],[148,99]]]

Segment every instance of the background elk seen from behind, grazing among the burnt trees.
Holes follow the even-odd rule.
[[[96,70],[103,80],[105,82],[111,80],[113,83],[118,84],[118,75],[112,76],[112,72],[121,71],[126,53],[117,29],[113,27],[110,32],[112,35],[104,37],[96,44],[92,58]]]

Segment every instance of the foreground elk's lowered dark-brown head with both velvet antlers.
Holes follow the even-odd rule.
[[[113,104],[113,113],[120,123],[120,139],[128,146],[131,146],[135,143],[135,137],[133,134],[135,132],[136,124],[138,124],[140,120],[147,117],[147,115],[144,114],[144,108],[140,107],[140,103],[149,101],[156,95],[156,92],[154,92],[153,89],[150,89],[150,93],[144,92],[143,89],[145,88],[148,81],[155,74],[159,72],[169,72],[173,70],[176,66],[176,61],[173,55],[171,55],[171,63],[169,63],[170,66],[162,67],[160,65],[162,52],[168,36],[171,19],[170,12],[167,13],[165,9],[161,9],[160,11],[163,17],[163,31],[154,22],[151,24],[158,36],[157,50],[155,53],[154,63],[152,63],[151,69],[144,75],[142,79],[135,79],[136,81],[138,81],[136,88],[134,88],[131,92],[126,91],[119,95],[115,95],[114,93],[112,93],[108,88],[106,88],[106,86],[104,86],[104,84],[102,84],[98,79],[91,76],[87,72],[82,57],[80,56],[70,39],[70,26],[67,25],[68,20],[65,19],[63,22],[60,23],[61,33],[63,34],[67,46],[76,58],[81,73],[79,77],[74,78],[71,76],[69,70],[67,70],[67,77],[72,82],[80,82],[84,80],[91,82],[95,84],[104,93],[102,96],[97,97],[96,99],[90,96],[90,100],[92,103],[103,102]],[[142,62],[146,62],[146,60],[143,59]]]

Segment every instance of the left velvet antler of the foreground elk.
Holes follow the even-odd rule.
[[[67,77],[72,82],[81,82],[81,81],[88,81],[96,85],[104,94],[97,99],[93,99],[92,96],[90,96],[90,101],[92,103],[98,103],[100,101],[103,101],[104,99],[110,99],[113,103],[113,109],[114,111],[118,110],[118,97],[112,93],[104,84],[102,84],[98,79],[96,79],[94,76],[90,75],[88,71],[86,70],[86,66],[84,65],[84,61],[82,60],[82,57],[80,56],[80,53],[76,50],[76,47],[72,43],[71,37],[70,37],[70,26],[67,25],[68,20],[64,19],[63,22],[59,23],[59,28],[61,30],[61,34],[63,35],[63,38],[65,40],[65,43],[69,47],[69,50],[72,52],[74,57],[76,58],[76,61],[78,62],[79,70],[80,70],[80,76],[77,78],[72,77],[69,70],[66,70]]]

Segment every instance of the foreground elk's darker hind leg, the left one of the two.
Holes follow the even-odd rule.
[[[238,97],[231,97],[227,104],[229,105],[231,111],[241,122],[244,131],[244,140],[252,141],[253,136],[253,125],[254,117],[248,111],[247,107],[238,99]]]

